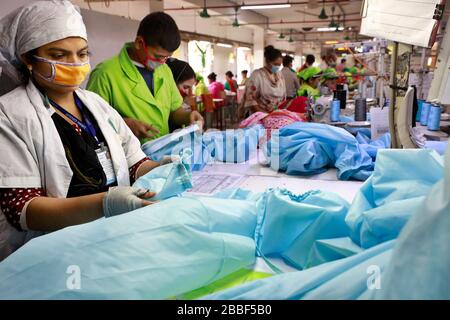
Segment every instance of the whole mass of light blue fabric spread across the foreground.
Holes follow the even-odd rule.
[[[445,170],[432,150],[380,150],[351,206],[322,191],[233,189],[68,227],[0,263],[0,298],[167,299],[259,253],[305,269],[206,298],[449,299],[449,166],[449,150]],[[80,289],[68,286],[74,266]]]

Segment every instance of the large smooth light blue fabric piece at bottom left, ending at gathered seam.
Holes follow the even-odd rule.
[[[0,298],[167,299],[253,264],[255,225],[254,202],[176,197],[68,227],[0,263]]]

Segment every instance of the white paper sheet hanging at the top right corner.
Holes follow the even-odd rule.
[[[440,0],[366,0],[360,33],[429,47],[439,3]]]

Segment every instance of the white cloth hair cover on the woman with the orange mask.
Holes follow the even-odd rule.
[[[20,56],[67,37],[87,40],[77,8],[67,0],[36,1],[0,20],[0,95],[21,84]]]

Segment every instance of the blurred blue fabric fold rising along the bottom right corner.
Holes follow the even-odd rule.
[[[450,299],[450,148],[445,177],[396,240],[377,299]]]

